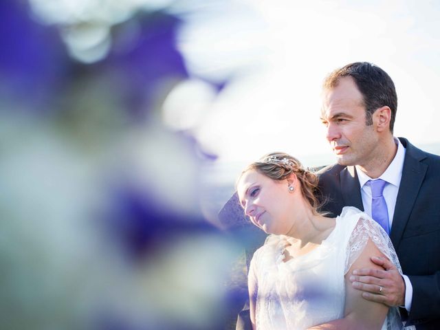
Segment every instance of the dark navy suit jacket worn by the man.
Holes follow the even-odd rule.
[[[440,329],[440,157],[399,140],[406,155],[390,238],[412,284],[408,321]],[[354,166],[327,166],[318,174],[327,199],[322,210],[336,217],[344,206],[364,209]]]

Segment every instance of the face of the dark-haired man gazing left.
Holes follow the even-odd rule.
[[[366,126],[362,94],[351,77],[323,91],[321,120],[339,164],[368,167],[372,163],[379,138],[374,124]]]

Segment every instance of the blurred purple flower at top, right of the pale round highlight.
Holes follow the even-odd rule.
[[[160,88],[169,90],[179,80],[188,78],[176,48],[180,24],[177,17],[153,12],[139,14],[113,31],[115,47],[102,65],[117,71],[126,104],[135,118],[143,118],[148,109],[157,105],[157,98],[164,96]],[[118,47],[120,44],[123,47]]]

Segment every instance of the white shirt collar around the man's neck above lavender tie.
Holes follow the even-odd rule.
[[[396,137],[394,138],[395,144],[397,144],[397,153],[394,156],[393,162],[386,168],[385,172],[382,173],[378,179],[382,179],[388,184],[393,184],[393,186],[396,186],[399,188],[400,186],[400,179],[401,179],[401,172],[404,168],[404,161],[405,161],[405,153],[406,149],[403,144],[401,144],[400,140]],[[369,180],[371,180],[371,177],[366,175],[362,170],[359,168],[358,165],[355,166],[356,172],[358,173],[358,179],[360,183],[360,188],[366,184]]]

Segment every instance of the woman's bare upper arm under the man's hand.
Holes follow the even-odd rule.
[[[310,330],[333,329],[381,329],[388,313],[388,306],[382,303],[362,298],[362,292],[352,287],[349,277],[353,270],[358,268],[382,269],[371,261],[371,256],[384,256],[376,245],[369,239],[358,259],[351,265],[345,274],[345,309],[344,318],[333,320],[309,328]]]

